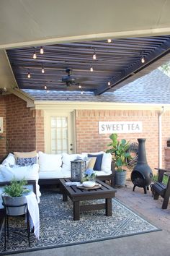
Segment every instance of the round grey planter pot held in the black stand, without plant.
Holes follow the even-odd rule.
[[[6,207],[6,214],[9,216],[19,216],[27,213],[26,205],[18,206],[26,202],[25,197],[9,197],[2,194],[1,198],[5,205],[14,205],[14,207]]]

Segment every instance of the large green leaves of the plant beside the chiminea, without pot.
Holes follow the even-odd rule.
[[[127,142],[125,139],[117,140],[117,134],[115,133],[110,135],[109,138],[112,140],[112,142],[110,142],[107,146],[111,148],[109,148],[106,153],[112,154],[117,171],[124,171],[122,167],[127,166],[128,161],[132,159],[129,152],[130,142]]]

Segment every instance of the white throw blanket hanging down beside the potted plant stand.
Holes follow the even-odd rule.
[[[30,192],[26,197],[28,211],[30,213],[30,226],[34,227],[34,233],[37,239],[40,235],[40,217],[39,217],[39,207],[37,204],[37,199],[34,192]]]

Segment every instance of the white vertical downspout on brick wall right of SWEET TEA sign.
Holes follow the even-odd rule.
[[[164,106],[158,112],[158,168],[162,168],[162,114],[164,114]]]

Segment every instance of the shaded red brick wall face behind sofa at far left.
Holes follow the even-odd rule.
[[[7,152],[35,150],[35,111],[15,95],[6,95],[5,100]]]

